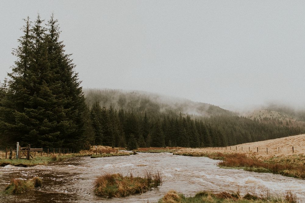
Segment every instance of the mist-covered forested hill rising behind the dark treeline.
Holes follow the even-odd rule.
[[[179,115],[180,112],[191,117],[210,117],[211,115],[236,115],[234,112],[218,106],[193,102],[187,99],[162,96],[141,91],[123,91],[117,89],[84,89],[89,107],[99,101],[101,106],[110,104],[115,109],[146,112],[147,114],[164,113]]]

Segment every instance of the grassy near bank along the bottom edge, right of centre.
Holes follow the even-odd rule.
[[[211,193],[206,191],[198,192],[194,197],[185,197],[183,194],[177,193],[176,191],[167,192],[158,203],[229,203],[229,202],[240,202],[240,203],[262,203],[262,202],[281,202],[281,203],[296,203],[296,197],[291,192],[287,191],[284,197],[258,197],[251,194],[241,196],[239,192],[236,193]]]

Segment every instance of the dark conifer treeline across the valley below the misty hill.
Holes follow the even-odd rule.
[[[115,147],[208,147],[280,138],[305,132],[303,127],[263,123],[239,116],[212,116],[200,120],[189,115],[146,114],[116,110],[99,102],[91,110],[95,144]]]

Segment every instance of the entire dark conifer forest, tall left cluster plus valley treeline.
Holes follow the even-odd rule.
[[[142,107],[122,100],[101,104],[85,98],[70,54],[59,40],[52,15],[24,20],[23,36],[13,49],[16,61],[0,94],[1,146],[31,144],[43,148],[89,149],[112,147],[208,147],[280,138],[305,132],[304,125],[285,125],[272,118],[250,119],[213,106],[209,116],[143,100]],[[93,93],[94,95],[94,93]],[[211,107],[210,107],[211,108]]]

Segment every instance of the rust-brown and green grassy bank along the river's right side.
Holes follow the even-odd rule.
[[[303,154],[270,157],[255,156],[253,153],[174,152],[174,154],[219,159],[222,161],[218,165],[224,168],[239,168],[305,179],[305,156]]]

